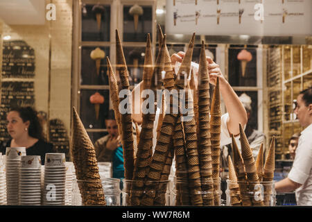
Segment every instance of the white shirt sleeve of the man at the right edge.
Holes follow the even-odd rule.
[[[311,135],[302,135],[299,138],[293,167],[288,178],[301,185],[309,178],[312,167],[312,140]]]

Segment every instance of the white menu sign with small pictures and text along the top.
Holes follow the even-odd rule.
[[[311,0],[166,0],[166,33],[312,35]]]

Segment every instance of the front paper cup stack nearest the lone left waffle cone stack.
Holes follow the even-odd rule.
[[[44,163],[44,205],[65,204],[66,165],[64,153],[46,153]]]

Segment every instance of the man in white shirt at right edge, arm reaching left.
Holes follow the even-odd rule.
[[[297,205],[312,205],[312,87],[297,96],[295,114],[302,131],[288,177],[275,183],[277,192],[294,191]]]

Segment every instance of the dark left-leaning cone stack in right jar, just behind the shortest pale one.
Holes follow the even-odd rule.
[[[243,206],[251,206],[252,202],[249,196],[248,181],[245,173],[245,165],[243,163],[243,157],[239,152],[234,135],[232,135],[232,147],[233,147],[233,161],[234,169],[236,172],[237,181],[239,183],[239,192],[241,194],[241,201]]]

